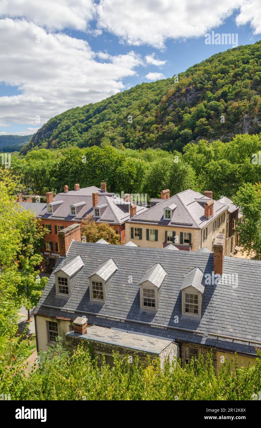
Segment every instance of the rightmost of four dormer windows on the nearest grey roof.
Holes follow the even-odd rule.
[[[201,318],[202,295],[205,285],[202,284],[203,272],[194,268],[185,275],[182,285],[182,315]]]

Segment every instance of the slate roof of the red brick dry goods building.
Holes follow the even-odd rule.
[[[89,187],[87,187],[87,189],[89,189]],[[81,190],[83,191],[84,189]],[[27,204],[24,205],[25,208],[26,206],[30,205],[29,208],[33,211],[36,210],[35,215],[42,220],[68,220],[76,223],[77,221],[82,221],[87,215],[93,215],[92,196],[82,195],[80,193],[81,190],[72,190],[67,193],[58,193],[51,202],[51,205],[55,204],[56,202],[60,202],[60,206],[56,208],[54,213],[47,213],[46,204],[21,202],[21,205],[23,206],[24,204]],[[70,214],[70,206],[76,204],[79,206],[83,202],[85,202],[85,204],[82,205],[79,213],[76,216],[72,216]],[[41,210],[37,205],[41,205]],[[113,193],[98,193],[98,205],[103,205],[104,209],[101,210],[101,217],[95,218],[97,223],[122,224],[130,218],[130,203],[126,203],[123,201],[123,199],[113,196]],[[146,207],[137,205],[137,213],[141,213],[146,210]]]

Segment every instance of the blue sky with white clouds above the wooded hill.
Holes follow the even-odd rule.
[[[186,0],[185,9],[129,0],[129,11],[120,0],[46,0],[39,10],[31,1],[0,6],[0,135],[33,134],[71,107],[172,77],[232,47],[206,45],[205,33],[237,33],[238,45],[261,33],[257,0]]]

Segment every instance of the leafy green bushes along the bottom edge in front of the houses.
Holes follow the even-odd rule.
[[[252,400],[252,394],[261,391],[261,354],[258,351],[255,365],[241,369],[237,356],[234,360],[234,372],[228,363],[218,375],[211,355],[185,369],[178,363],[162,371],[157,361],[144,369],[138,360],[131,366],[127,357],[117,356],[112,369],[105,361],[99,368],[81,346],[69,357],[57,343],[41,354],[38,369],[29,375],[21,369],[1,390],[12,400]]]

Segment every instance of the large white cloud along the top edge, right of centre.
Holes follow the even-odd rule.
[[[164,48],[168,38],[205,35],[222,24],[241,3],[243,0],[101,0],[97,6],[98,27],[129,44]]]

